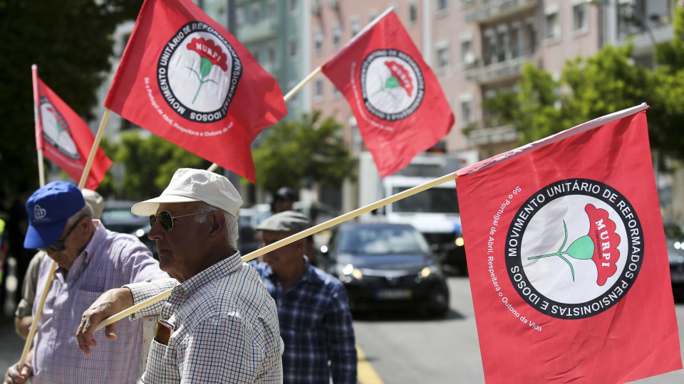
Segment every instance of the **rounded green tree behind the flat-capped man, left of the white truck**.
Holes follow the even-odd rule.
[[[353,178],[353,160],[341,137],[342,125],[321,112],[304,114],[301,120],[279,122],[254,149],[257,185],[266,191],[281,186],[299,189],[308,178],[321,186],[339,188]]]

